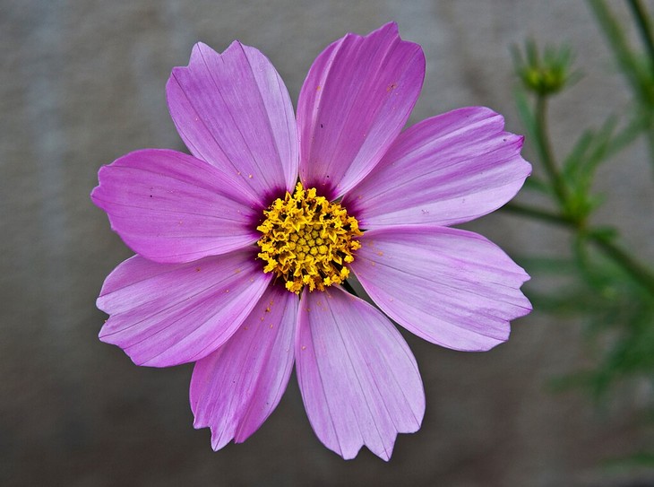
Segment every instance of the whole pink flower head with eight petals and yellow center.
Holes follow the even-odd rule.
[[[388,460],[425,412],[389,317],[484,351],[529,313],[521,267],[451,228],[518,192],[522,137],[478,107],[400,133],[424,74],[422,49],[394,23],[348,34],[311,66],[294,116],[258,50],[197,44],[167,85],[193,155],[146,149],[99,170],[92,200],[137,254],[102,287],[100,339],[138,365],[195,362],[194,426],[211,428],[214,449],[262,425],[295,362],[323,444]],[[346,291],[352,275],[383,313]]]

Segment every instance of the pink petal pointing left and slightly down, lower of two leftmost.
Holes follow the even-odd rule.
[[[270,282],[250,250],[188,264],[134,256],[102,286],[98,308],[111,316],[99,337],[137,365],[198,361],[228,341]]]

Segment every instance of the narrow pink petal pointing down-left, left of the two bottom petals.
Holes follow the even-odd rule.
[[[228,343],[195,364],[195,428],[211,428],[211,446],[245,441],[271,415],[293,369],[297,296],[271,286]]]

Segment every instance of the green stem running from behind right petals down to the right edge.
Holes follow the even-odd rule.
[[[563,214],[553,213],[524,204],[510,203],[504,205],[503,208],[510,213],[534,218],[542,222],[554,223],[573,230],[578,235],[589,240],[589,242],[591,242],[596,248],[600,249],[605,256],[613,260],[615,264],[620,265],[627,274],[631,275],[636,283],[641,284],[642,287],[654,295],[654,274],[652,274],[650,269],[641,265],[641,263],[625,252],[623,248],[615,245],[615,243],[611,242],[598,232],[586,230],[582,226],[582,222],[576,222]]]

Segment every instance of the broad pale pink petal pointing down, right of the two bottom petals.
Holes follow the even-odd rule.
[[[303,292],[297,380],[323,444],[345,459],[363,446],[388,460],[397,433],[420,428],[425,393],[400,333],[364,300],[331,288]]]

